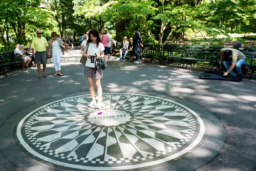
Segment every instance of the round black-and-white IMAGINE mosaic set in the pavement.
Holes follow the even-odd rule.
[[[14,141],[34,160],[58,168],[149,169],[195,153],[209,136],[203,116],[172,100],[103,93],[102,109],[91,95],[57,100],[15,125]]]

